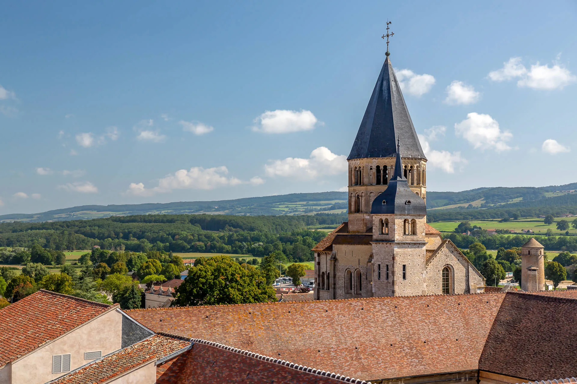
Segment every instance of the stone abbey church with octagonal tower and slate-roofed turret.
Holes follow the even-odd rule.
[[[481,273],[426,223],[427,159],[388,55],[348,161],[349,221],[313,248],[316,299],[484,291]]]

